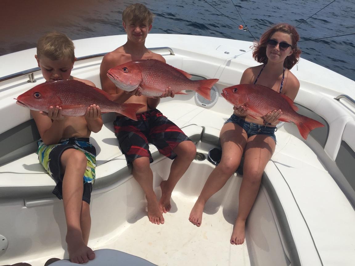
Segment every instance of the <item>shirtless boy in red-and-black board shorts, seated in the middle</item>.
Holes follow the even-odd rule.
[[[139,88],[130,93],[117,88],[107,77],[110,68],[132,60],[156,59],[165,63],[164,57],[148,50],[144,44],[152,28],[152,21],[153,14],[142,4],[130,5],[124,10],[122,24],[127,33],[127,42],[104,56],[100,66],[100,78],[103,90],[112,94],[116,102],[144,104],[137,112],[138,121],[122,116],[116,118],[115,134],[122,153],[127,161],[132,163],[133,177],[146,194],[149,221],[159,225],[164,223],[163,212],[166,213],[171,208],[170,198],[176,183],[195,157],[195,144],[156,109],[160,98],[174,97],[174,92],[166,89],[160,98],[148,98],[141,94]],[[159,201],[153,191],[153,172],[149,166],[153,159],[148,142],[157,146],[159,152],[166,157],[174,159],[168,180],[160,184],[162,197]]]

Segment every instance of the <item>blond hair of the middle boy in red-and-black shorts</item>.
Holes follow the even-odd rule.
[[[148,20],[148,25],[153,23],[154,14],[142,4],[133,4],[127,6],[122,13],[122,22],[126,23],[127,21],[134,22],[146,22]]]

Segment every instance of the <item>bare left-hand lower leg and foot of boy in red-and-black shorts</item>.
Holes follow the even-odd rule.
[[[162,211],[159,209],[157,196],[153,190],[153,172],[149,165],[149,157],[140,157],[132,162],[133,177],[142,187],[148,202],[148,218],[155,224],[164,223]]]

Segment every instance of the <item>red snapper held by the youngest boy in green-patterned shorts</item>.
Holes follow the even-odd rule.
[[[62,115],[83,116],[87,108],[96,104],[102,112],[121,113],[137,120],[136,112],[143,104],[118,104],[112,95],[76,80],[59,80],[39,84],[19,95],[17,104],[35,111],[48,112],[50,106],[62,108]]]

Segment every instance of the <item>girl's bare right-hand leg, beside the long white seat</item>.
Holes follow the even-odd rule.
[[[258,194],[266,164],[275,150],[275,141],[266,135],[248,139],[244,152],[243,180],[239,190],[238,215],[230,243],[240,245],[245,239],[245,221]]]

